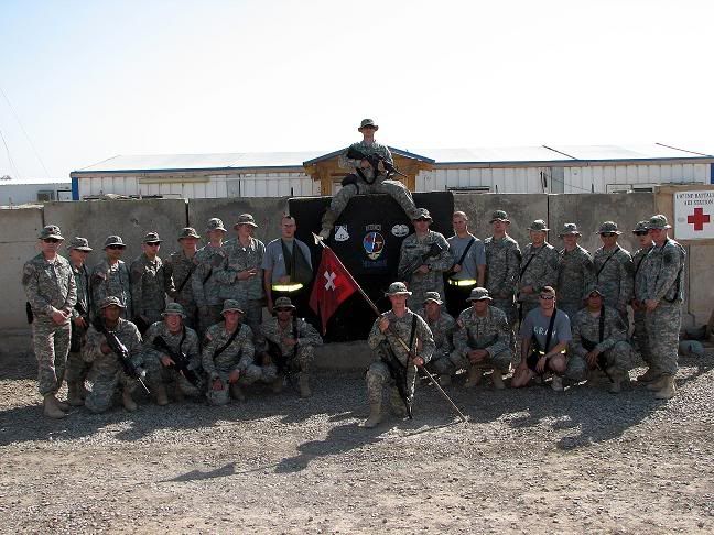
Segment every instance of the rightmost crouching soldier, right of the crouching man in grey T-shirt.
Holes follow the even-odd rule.
[[[603,304],[603,293],[597,286],[587,294],[587,306],[573,317],[571,326],[573,341],[566,376],[574,381],[587,376],[589,383],[599,370],[610,380],[609,391],[619,393],[623,381],[629,380],[631,368],[627,326],[617,310]]]

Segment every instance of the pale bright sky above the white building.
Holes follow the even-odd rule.
[[[713,35],[708,0],[0,0],[0,176],[328,152],[363,118],[411,151],[712,153]]]

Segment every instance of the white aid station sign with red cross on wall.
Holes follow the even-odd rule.
[[[714,239],[714,190],[674,194],[674,239]]]

